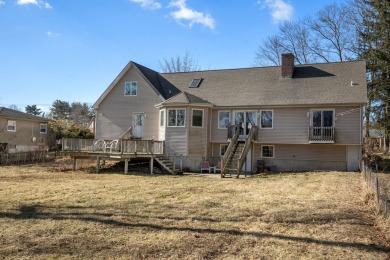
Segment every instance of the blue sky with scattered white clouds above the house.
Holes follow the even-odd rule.
[[[129,61],[254,66],[284,21],[337,0],[0,0],[0,106],[93,104]],[[339,2],[339,1],[338,1]]]

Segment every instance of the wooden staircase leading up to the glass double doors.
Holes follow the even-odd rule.
[[[224,178],[228,174],[230,176],[236,174],[236,178],[240,177],[242,166],[257,135],[257,127],[252,126],[245,142],[239,141],[239,127],[234,127],[235,134],[231,138],[226,153],[222,158],[221,178]]]

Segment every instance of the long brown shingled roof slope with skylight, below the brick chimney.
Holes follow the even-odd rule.
[[[365,104],[364,61],[297,65],[292,78],[281,67],[161,73],[181,91],[216,106]],[[202,78],[199,88],[188,88]],[[351,84],[351,81],[353,84]]]

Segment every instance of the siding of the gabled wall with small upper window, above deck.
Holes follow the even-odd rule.
[[[137,81],[137,96],[124,96],[126,81]],[[145,113],[144,139],[159,136],[159,115],[155,104],[160,97],[144,77],[132,67],[100,103],[96,113],[96,138],[117,139],[133,126],[133,113]]]

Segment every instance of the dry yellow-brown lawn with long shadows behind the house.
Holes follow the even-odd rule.
[[[0,258],[390,257],[358,174],[219,179],[54,168],[0,167]]]

